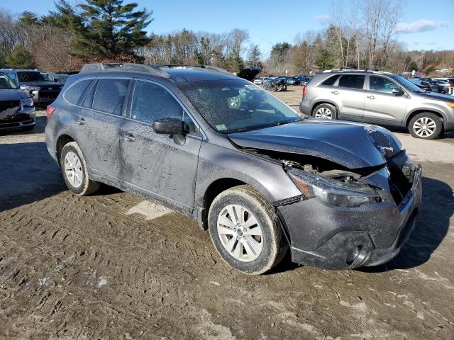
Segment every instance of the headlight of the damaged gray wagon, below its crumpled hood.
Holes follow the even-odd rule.
[[[331,205],[349,208],[382,201],[374,188],[362,183],[346,183],[297,169],[287,174],[305,198],[317,197]]]

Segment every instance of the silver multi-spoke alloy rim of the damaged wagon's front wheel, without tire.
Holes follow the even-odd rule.
[[[231,204],[221,210],[217,232],[228,254],[238,261],[254,261],[262,252],[262,227],[243,205]]]

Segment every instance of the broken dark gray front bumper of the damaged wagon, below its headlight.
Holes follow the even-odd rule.
[[[421,212],[422,171],[402,203],[340,208],[316,198],[277,207],[289,237],[292,261],[328,269],[377,266],[399,254]],[[359,247],[352,262],[348,255]]]

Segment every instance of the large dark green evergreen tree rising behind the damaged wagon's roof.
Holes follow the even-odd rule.
[[[137,47],[150,42],[145,28],[153,21],[145,8],[135,11],[136,3],[123,0],[84,0],[76,11],[67,0],[59,0],[46,21],[67,28],[74,35],[72,52],[77,57],[133,55]]]

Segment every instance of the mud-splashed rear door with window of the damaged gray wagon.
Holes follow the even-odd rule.
[[[98,78],[81,99],[81,109],[74,115],[77,142],[90,171],[107,181],[122,177],[120,127],[132,79]]]

